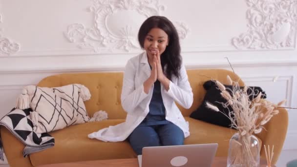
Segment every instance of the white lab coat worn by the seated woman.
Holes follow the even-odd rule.
[[[126,121],[90,133],[89,138],[105,142],[120,142],[127,139],[149,112],[148,105],[152,97],[153,86],[146,94],[143,83],[150,76],[150,71],[146,52],[127,62],[121,95],[122,106],[127,112]],[[161,84],[161,94],[166,109],[166,120],[180,127],[186,138],[190,135],[189,123],[186,122],[174,101],[185,108],[190,108],[193,103],[193,93],[184,65],[181,66],[179,73],[179,79],[175,76],[171,78],[172,82],[170,81],[168,91]]]

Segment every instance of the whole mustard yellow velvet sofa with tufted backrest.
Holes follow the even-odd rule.
[[[206,91],[203,88],[205,81],[212,77],[223,84],[227,84],[226,76],[236,79],[233,72],[223,69],[195,69],[187,70],[192,87],[194,102],[190,109],[179,106],[186,120],[190,124],[191,135],[185,139],[185,145],[218,143],[216,156],[228,154],[229,139],[236,130],[208,124],[189,117],[203,101]],[[208,77],[205,77],[208,76]],[[67,73],[44,78],[38,86],[57,87],[67,84],[84,84],[91,92],[91,99],[85,102],[89,116],[98,110],[105,110],[108,120],[102,122],[71,125],[61,130],[51,132],[55,138],[55,146],[43,151],[33,153],[26,158],[22,156],[24,145],[3,126],[0,129],[5,155],[10,167],[31,167],[44,164],[55,164],[74,161],[104,160],[135,158],[127,141],[110,143],[89,139],[87,135],[109,125],[117,125],[125,121],[126,112],[121,106],[121,89],[123,73],[98,72],[98,73]],[[240,82],[243,84],[242,82]],[[267,131],[257,135],[261,146],[261,157],[265,157],[263,144],[275,145],[273,163],[276,163],[281,152],[287,127],[288,114],[279,108],[279,114],[274,116],[265,125]]]

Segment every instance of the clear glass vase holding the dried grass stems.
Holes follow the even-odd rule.
[[[235,133],[232,136],[227,167],[260,167],[259,141],[254,135]]]

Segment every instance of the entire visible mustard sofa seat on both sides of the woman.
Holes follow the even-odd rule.
[[[237,131],[227,127],[209,124],[185,117],[190,124],[191,135],[185,139],[185,145],[217,143],[216,156],[227,156],[229,140]],[[104,120],[101,122],[71,125],[67,128],[51,132],[55,138],[55,146],[30,155],[33,166],[75,161],[91,161],[104,159],[136,158],[127,141],[102,142],[89,139],[87,135],[109,125],[117,125],[125,119]],[[261,140],[258,138],[260,146]]]

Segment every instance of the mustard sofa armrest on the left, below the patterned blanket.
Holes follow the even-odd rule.
[[[24,145],[6,127],[0,126],[1,141],[10,167],[32,167],[29,156],[23,157]]]

